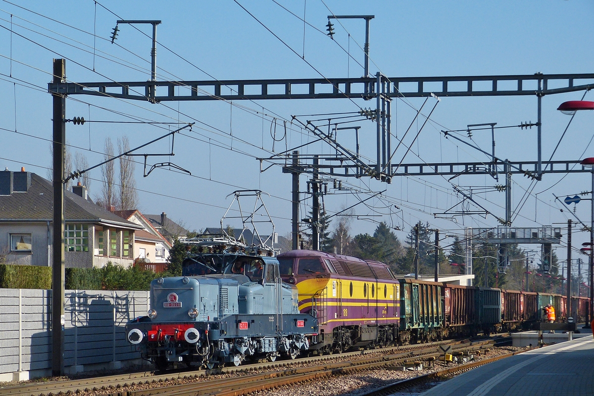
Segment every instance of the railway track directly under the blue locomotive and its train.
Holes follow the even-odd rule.
[[[489,343],[493,344],[494,340],[487,340],[481,341],[482,343]],[[388,356],[399,356],[400,359],[416,359],[425,356],[431,355],[431,352],[428,350],[433,350],[432,353],[437,353],[437,347],[443,344],[451,344],[454,347],[459,346],[477,346],[477,342],[471,342],[470,340],[445,340],[445,341],[436,341],[433,343],[425,343],[425,344],[415,344],[410,346],[403,346],[403,347],[388,347],[384,349],[371,349],[371,350],[363,350],[359,352],[349,352],[343,353],[341,355],[324,355],[324,356],[315,356],[315,357],[304,357],[301,359],[295,360],[282,360],[277,361],[274,363],[257,363],[252,365],[242,365],[239,367],[224,367],[214,370],[195,370],[195,371],[172,371],[172,372],[156,372],[156,371],[146,371],[146,372],[135,372],[135,373],[126,373],[120,375],[109,375],[109,376],[101,376],[101,377],[94,377],[94,378],[84,378],[84,379],[77,379],[72,381],[49,381],[49,382],[31,382],[28,384],[23,385],[16,385],[16,386],[8,386],[8,387],[0,387],[0,396],[37,396],[37,395],[49,395],[49,394],[68,394],[68,392],[81,392],[81,391],[102,391],[105,390],[106,394],[108,392],[112,392],[108,389],[113,389],[109,387],[121,388],[127,387],[128,385],[133,384],[157,384],[158,382],[163,381],[170,381],[175,379],[183,379],[183,378],[199,378],[203,376],[209,375],[220,375],[220,374],[227,374],[227,373],[240,373],[242,381],[245,381],[247,378],[246,373],[250,371],[258,371],[262,369],[266,369],[270,371],[271,369],[279,369],[283,368],[283,366],[290,366],[293,364],[311,364],[320,362],[323,365],[325,360],[328,359],[336,359],[338,358],[346,358],[349,357],[361,357],[377,352],[391,354]],[[429,355],[427,355],[429,353]],[[375,357],[371,360],[381,360],[381,357]],[[349,360],[349,364],[355,364],[355,362],[359,362],[365,359],[353,359]],[[379,361],[378,360],[378,361]],[[319,366],[318,366],[319,367]],[[342,370],[340,368],[337,368]],[[285,371],[292,371],[295,369],[288,369]],[[229,379],[226,379],[229,381]],[[117,392],[115,393],[118,394]]]

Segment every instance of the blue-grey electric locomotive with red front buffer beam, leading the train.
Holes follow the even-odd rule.
[[[188,242],[188,241],[186,241]],[[279,263],[229,239],[197,238],[182,276],[153,280],[147,317],[127,338],[158,369],[173,362],[213,368],[248,359],[295,359],[317,342],[318,320],[299,313],[298,292]]]

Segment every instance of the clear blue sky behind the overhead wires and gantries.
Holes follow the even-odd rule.
[[[371,21],[371,74],[381,71],[384,75],[396,77],[593,71],[594,4],[590,1],[277,1],[300,18],[304,16],[305,6],[307,22],[323,31],[329,14],[375,15]],[[360,47],[364,42],[363,21],[343,21],[342,26],[336,24],[336,41],[332,41],[309,26],[305,28],[304,34],[303,21],[271,0],[241,0],[239,4],[298,55],[232,0],[102,0],[99,4],[91,0],[61,0],[15,4],[26,9],[0,1],[0,165],[11,170],[25,166],[27,170],[45,175],[44,167],[50,164],[49,143],[43,139],[51,137],[51,97],[46,88],[50,81],[52,58],[68,59],[67,77],[73,82],[146,81],[149,78],[150,25],[138,26],[138,30],[121,25],[116,41],[118,45],[115,45],[106,39],[109,39],[115,21],[119,18],[162,20],[157,32],[158,79],[362,75],[361,67],[353,59],[347,61],[347,54],[337,43],[349,47],[353,58],[362,63]],[[348,34],[350,41],[347,39]],[[317,71],[304,62],[302,56]],[[582,94],[574,92],[544,98],[544,159],[551,155],[569,120],[569,117],[555,109],[561,102],[577,100]],[[594,94],[587,94],[586,100],[593,100],[590,95]],[[67,101],[67,117],[84,116],[90,120],[109,121],[129,121],[131,117],[154,122],[197,120],[197,127],[189,133],[192,138],[176,138],[176,155],[171,159],[191,171],[193,176],[156,170],[143,178],[142,167],[138,165],[139,209],[145,213],[165,211],[170,218],[183,222],[187,228],[201,229],[219,223],[230,203],[230,199],[225,197],[233,190],[261,189],[273,196],[267,200],[268,209],[275,216],[277,231],[285,234],[290,231],[290,176],[282,174],[279,167],[260,173],[260,163],[254,158],[271,155],[273,140],[270,129],[273,117],[277,119],[279,137],[283,132],[283,119],[290,120],[292,114],[357,111],[358,107],[371,106],[362,100],[354,102],[302,100],[241,101],[230,104],[220,101],[153,105],[73,96]],[[418,108],[421,104],[421,99],[394,103],[395,135],[401,136],[411,122],[411,107]],[[264,117],[261,114],[263,107]],[[592,117],[594,114],[589,112],[576,116],[554,159],[594,157],[594,145],[587,146],[594,132]],[[440,130],[463,129],[472,123],[496,122],[505,126],[527,121],[536,121],[536,97],[443,98],[432,114],[431,122],[421,132],[418,144],[413,145],[415,154],[410,153],[405,162],[420,162],[416,155],[427,162],[485,161],[485,155],[443,139]],[[276,142],[274,151],[284,151],[285,147],[291,148],[312,139],[298,128],[291,128],[290,124],[288,126],[286,140]],[[416,127],[413,126],[414,134]],[[19,133],[15,133],[15,129]],[[163,135],[166,130],[168,126],[163,125],[90,123],[74,126],[69,123],[67,138],[72,152],[83,153],[92,165],[102,160],[100,152],[106,136],[116,140],[118,136],[127,135],[131,145],[137,146]],[[362,154],[375,158],[374,125],[371,122],[362,123],[361,131]],[[473,139],[489,151],[489,133],[477,132]],[[501,158],[516,161],[536,159],[536,129],[501,130],[497,132],[496,140],[497,155]],[[345,139],[344,143],[354,148],[352,139]],[[165,151],[166,144],[160,144],[151,146],[149,152]],[[309,146],[309,153],[314,152],[328,153],[329,149],[321,145]],[[396,159],[400,159],[399,155],[396,155]],[[157,158],[153,162],[160,161],[162,159]],[[90,186],[91,197],[94,197],[100,189],[99,171],[92,172],[91,177],[96,179]],[[552,189],[538,194],[540,201],[536,201],[535,193],[548,189],[561,177],[545,175],[535,187],[530,186],[527,178],[514,177],[514,207],[520,204],[523,189],[530,187],[532,191],[514,225],[541,226],[567,221],[567,213],[560,212],[552,193],[565,196],[589,190],[590,175],[567,176]],[[301,178],[302,186],[305,186],[305,181],[304,175]],[[451,233],[461,232],[464,226],[497,225],[492,216],[486,219],[466,216],[457,218],[457,222],[434,219],[432,213],[443,212],[459,199],[451,184],[442,177],[396,178],[388,186],[369,180],[348,180],[346,183],[363,191],[387,189],[382,199],[369,200],[366,202],[368,207],[359,205],[355,212],[360,215],[383,214],[374,219],[386,221],[391,226],[400,226],[406,231],[418,220],[451,230],[447,231]],[[481,187],[494,186],[496,182],[489,177],[460,177],[457,183]],[[364,193],[358,196],[328,195],[325,197],[326,209],[333,213],[367,196]],[[475,197],[481,205],[500,217],[504,216],[503,193],[475,194]],[[309,201],[305,201],[304,210],[309,210],[307,205]],[[386,206],[391,205],[402,207],[403,215],[390,215]],[[475,208],[471,206],[471,209]],[[576,213],[584,221],[589,220],[588,203],[580,203]],[[352,228],[353,234],[371,233],[375,223],[353,221]],[[405,232],[398,232],[398,235],[401,239],[405,238]],[[574,240],[580,243],[586,239],[586,233],[581,232]],[[557,254],[564,258],[565,250],[559,249]]]

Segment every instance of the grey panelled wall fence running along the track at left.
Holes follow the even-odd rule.
[[[65,372],[141,364],[125,325],[149,308],[148,291],[66,290]],[[51,374],[51,313],[52,290],[0,289],[0,381]]]

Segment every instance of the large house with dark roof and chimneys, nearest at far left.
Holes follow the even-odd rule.
[[[84,186],[72,190],[64,197],[65,266],[130,266],[143,227],[95,205]],[[52,265],[52,199],[52,183],[40,175],[0,171],[0,257],[8,264]]]

